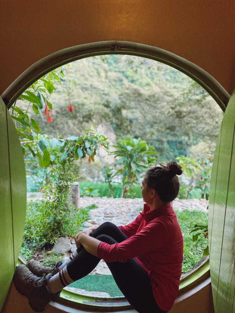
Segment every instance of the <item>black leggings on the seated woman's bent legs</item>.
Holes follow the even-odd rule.
[[[100,225],[91,237],[108,244],[115,244],[127,239],[127,236],[114,224],[105,222]],[[67,265],[67,271],[72,280],[79,280],[91,273],[100,259],[83,248],[77,249],[78,254]],[[165,313],[157,305],[149,276],[145,269],[136,261],[106,262],[113,278],[128,302],[139,313]]]

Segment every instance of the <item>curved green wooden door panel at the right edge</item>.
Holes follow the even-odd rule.
[[[235,92],[229,100],[217,140],[209,198],[210,269],[216,313],[235,312],[234,129]]]

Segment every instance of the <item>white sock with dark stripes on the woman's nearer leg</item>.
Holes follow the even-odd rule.
[[[67,272],[67,266],[65,266],[59,273],[55,274],[48,280],[47,288],[49,293],[55,294],[73,282],[74,280],[70,278]]]

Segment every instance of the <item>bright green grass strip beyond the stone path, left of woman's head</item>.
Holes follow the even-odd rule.
[[[123,185],[122,184],[112,184],[114,192],[113,198],[121,198]],[[108,184],[103,182],[79,182],[80,192],[86,188],[93,188],[97,190],[99,197],[110,197],[110,192],[108,189]],[[127,198],[142,198],[140,185],[134,185],[128,191]]]

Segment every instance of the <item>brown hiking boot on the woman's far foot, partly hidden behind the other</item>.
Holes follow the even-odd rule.
[[[32,272],[34,275],[38,277],[42,277],[44,274],[48,275],[51,274],[54,276],[56,273],[59,273],[60,269],[59,266],[62,264],[62,261],[55,262],[45,262],[40,264],[39,262],[36,262],[35,260],[31,259],[29,262],[26,263],[26,266]],[[49,267],[50,266],[50,267]]]

